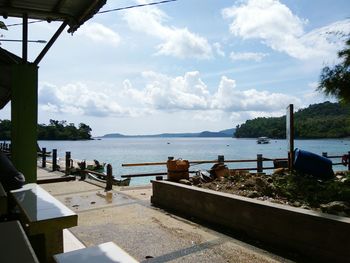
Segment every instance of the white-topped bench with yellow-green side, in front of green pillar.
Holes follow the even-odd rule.
[[[13,190],[11,197],[39,260],[52,262],[54,254],[63,252],[63,229],[78,224],[77,214],[37,184]]]

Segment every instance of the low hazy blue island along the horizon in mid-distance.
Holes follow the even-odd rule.
[[[161,133],[153,135],[123,135],[120,133],[110,133],[98,138],[194,138],[194,137],[233,137],[235,128],[218,132],[203,131],[198,133]]]

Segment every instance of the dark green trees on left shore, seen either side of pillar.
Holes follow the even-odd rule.
[[[11,139],[11,121],[0,120],[0,140]],[[50,120],[48,125],[38,124],[38,140],[89,140],[90,126],[80,123],[78,128],[74,123]]]

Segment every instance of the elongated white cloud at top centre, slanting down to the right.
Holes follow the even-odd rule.
[[[208,59],[212,47],[207,39],[190,32],[187,28],[165,25],[169,17],[157,7],[145,7],[126,11],[124,20],[132,30],[144,32],[163,41],[157,46],[157,55],[179,58]]]

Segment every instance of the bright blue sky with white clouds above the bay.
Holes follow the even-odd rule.
[[[155,1],[108,0],[101,11]],[[97,14],[39,64],[38,122],[83,122],[93,136],[219,131],[334,101],[316,87],[339,63],[349,11],[348,0],[178,0]],[[29,39],[59,25],[30,24]],[[21,38],[21,26],[8,29],[2,38]],[[19,43],[0,43],[21,55]],[[29,61],[43,47],[30,44]]]

